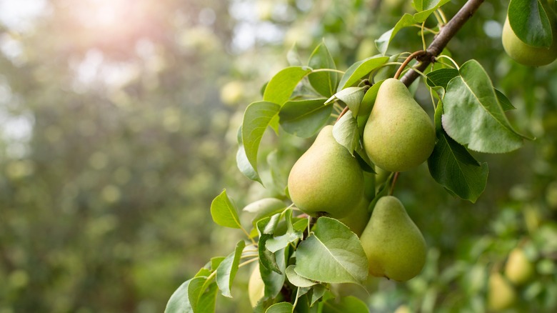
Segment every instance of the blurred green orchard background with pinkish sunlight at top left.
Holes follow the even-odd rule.
[[[517,245],[536,274],[509,310],[557,310],[557,67],[504,54],[506,6],[486,1],[448,49],[481,62],[517,108],[511,122],[537,139],[476,155],[490,167],[476,204],[425,164],[401,175],[428,264],[407,284],[355,290],[373,312],[483,312],[490,273]],[[0,313],[163,312],[241,237],[211,222],[211,199],[226,188],[241,208],[274,195],[235,164],[261,86],[321,41],[338,69],[376,54],[373,39],[403,12],[411,1],[0,0]],[[417,34],[404,29],[391,51],[421,49]],[[431,108],[426,89],[417,99]],[[274,151],[283,175],[311,144],[268,135],[262,157]],[[217,312],[249,311],[247,274]]]

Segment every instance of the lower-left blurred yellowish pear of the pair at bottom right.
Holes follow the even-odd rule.
[[[488,311],[503,311],[511,307],[515,301],[516,291],[513,286],[498,272],[491,273],[488,280]]]

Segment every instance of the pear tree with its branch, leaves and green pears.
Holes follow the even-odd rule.
[[[316,139],[291,168],[287,184],[278,186],[281,197],[259,199],[241,214],[226,189],[214,199],[214,222],[245,238],[185,279],[166,312],[216,312],[216,297],[241,293],[233,286],[244,267],[251,269],[247,289],[254,312],[269,313],[368,312],[363,299],[339,294],[336,286],[364,288],[372,276],[403,284],[420,274],[428,227],[418,227],[395,195],[401,172],[426,163],[448,193],[476,202],[486,189],[488,164],[474,155],[511,152],[532,139],[507,119],[513,105],[482,64],[458,64],[446,49],[482,3],[468,0],[447,19],[443,8],[451,1],[413,0],[416,12],[403,14],[375,40],[379,54],[338,69],[323,42],[306,65],[288,66],[264,83],[238,130],[239,171],[276,187],[280,180],[260,175],[264,134]],[[511,58],[528,66],[556,59],[553,6],[511,0],[503,29]],[[414,26],[424,49],[388,54],[398,31]],[[431,94],[432,114],[414,99],[418,87]],[[252,217],[249,225],[245,214]],[[516,258],[507,272],[521,267]],[[509,275],[523,282],[531,266],[522,271]],[[497,273],[488,285],[506,289],[491,294],[488,307],[508,307],[513,289],[506,279]]]

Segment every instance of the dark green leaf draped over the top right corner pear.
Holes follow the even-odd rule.
[[[553,31],[547,14],[553,12],[546,12],[538,0],[511,0],[508,4],[508,24],[530,46],[551,46]]]

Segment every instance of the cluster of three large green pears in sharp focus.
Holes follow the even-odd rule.
[[[336,218],[357,234],[368,257],[369,274],[400,282],[415,277],[426,262],[423,235],[396,197],[381,197],[370,214],[373,197],[366,197],[363,170],[332,132],[333,126],[323,127],[292,167],[288,176],[292,202],[311,217]],[[436,134],[428,114],[406,86],[386,79],[362,141],[378,169],[403,172],[428,159]]]

